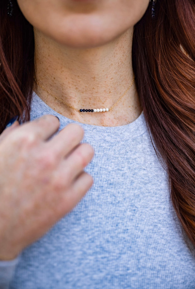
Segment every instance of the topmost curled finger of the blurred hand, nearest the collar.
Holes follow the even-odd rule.
[[[24,123],[17,129],[17,137],[26,136],[29,139],[47,140],[59,128],[59,120],[53,115],[44,115],[31,122]]]

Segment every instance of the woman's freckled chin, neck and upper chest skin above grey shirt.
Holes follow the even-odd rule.
[[[111,107],[133,78],[133,25],[145,13],[148,3],[149,0],[18,0],[21,11],[34,26],[36,78],[76,108]],[[81,114],[51,95],[46,98],[47,93],[39,87],[36,93],[64,116],[89,124],[124,125],[141,113],[135,84],[107,115]]]

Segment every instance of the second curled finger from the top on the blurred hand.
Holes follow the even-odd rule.
[[[58,135],[47,142],[57,155],[62,157],[70,153],[83,139],[84,131],[78,124],[70,123]]]

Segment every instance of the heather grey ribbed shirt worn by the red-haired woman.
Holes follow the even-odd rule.
[[[72,122],[34,95],[31,118],[43,114],[58,116],[60,129]],[[143,113],[120,127],[81,125],[95,149],[86,167],[93,187],[22,252],[15,271],[1,262],[1,278],[8,284],[14,274],[10,289],[194,289],[195,250],[172,208]]]

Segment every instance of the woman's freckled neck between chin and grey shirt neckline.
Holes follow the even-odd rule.
[[[76,108],[112,107],[133,79],[132,29],[104,46],[64,47],[35,30],[36,79],[48,91]],[[82,123],[119,126],[141,113],[135,84],[108,113],[80,113],[39,86],[36,93],[57,112]]]

